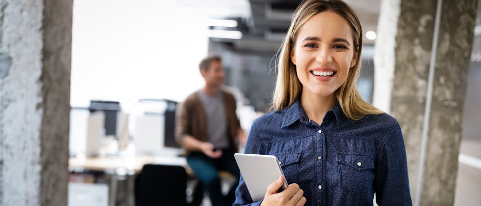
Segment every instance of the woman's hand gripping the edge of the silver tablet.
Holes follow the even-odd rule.
[[[281,175],[277,180],[267,187],[264,200],[261,206],[303,206],[306,198],[303,197],[304,191],[297,184],[290,184],[282,192],[278,192],[279,188],[284,184],[284,176]]]

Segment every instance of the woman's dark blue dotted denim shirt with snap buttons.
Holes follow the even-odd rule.
[[[374,193],[380,206],[412,205],[401,128],[387,114],[353,121],[338,104],[319,126],[297,99],[256,119],[244,152],[275,155],[287,182],[304,191],[306,206],[372,206]],[[240,177],[233,205],[261,201],[252,201]]]

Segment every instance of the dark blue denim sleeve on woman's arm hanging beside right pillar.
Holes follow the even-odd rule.
[[[380,206],[412,206],[406,147],[397,121],[382,144],[374,180],[376,202]]]

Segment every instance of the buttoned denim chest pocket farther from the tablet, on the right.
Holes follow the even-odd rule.
[[[374,182],[374,158],[363,154],[337,154],[341,187],[363,195]]]

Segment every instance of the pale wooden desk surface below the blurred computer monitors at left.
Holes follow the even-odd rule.
[[[184,157],[176,156],[155,156],[155,155],[134,155],[127,157],[71,157],[69,158],[69,169],[88,169],[88,170],[128,170],[136,173],[142,170],[145,164],[166,164],[180,165],[186,167],[187,173],[190,172],[187,161]]]

